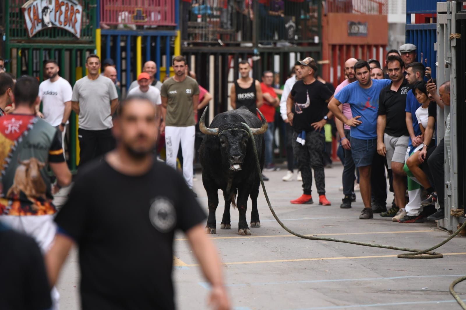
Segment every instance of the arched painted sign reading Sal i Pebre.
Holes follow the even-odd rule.
[[[75,0],[29,0],[21,9],[29,37],[48,27],[81,37],[82,6]]]

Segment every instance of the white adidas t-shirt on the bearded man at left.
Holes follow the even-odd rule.
[[[71,101],[73,89],[62,77],[57,81],[45,80],[39,85],[39,98],[42,101],[44,120],[56,127],[62,123],[65,102]],[[67,121],[68,123],[68,121]]]

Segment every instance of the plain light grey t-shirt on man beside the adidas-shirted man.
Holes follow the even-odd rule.
[[[79,128],[104,130],[113,127],[110,101],[117,99],[115,84],[99,75],[96,80],[87,76],[76,81],[71,101],[79,102]]]

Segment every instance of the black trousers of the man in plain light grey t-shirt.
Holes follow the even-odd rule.
[[[80,166],[115,148],[115,138],[111,129],[86,130],[78,128],[78,138],[81,149],[79,152]]]

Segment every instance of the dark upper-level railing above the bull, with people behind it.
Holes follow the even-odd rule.
[[[322,6],[317,1],[206,0],[193,4],[189,43],[318,43]]]

